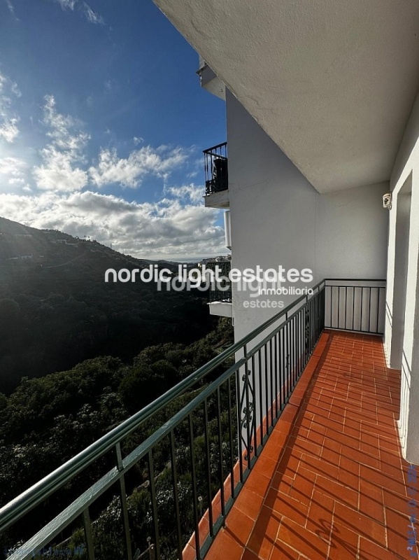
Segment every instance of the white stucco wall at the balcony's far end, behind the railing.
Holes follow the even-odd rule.
[[[315,281],[385,278],[388,183],[319,195],[228,91],[226,99],[232,267],[310,268]],[[245,309],[251,299],[233,286],[236,339],[279,310]]]

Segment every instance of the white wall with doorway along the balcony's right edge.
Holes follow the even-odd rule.
[[[390,179],[393,204],[390,210],[385,325],[389,364],[402,369],[399,419],[402,451],[407,461],[416,464],[419,464],[418,139],[419,98],[413,106]],[[410,206],[409,212],[406,205]],[[406,227],[406,219],[409,219],[409,227]],[[407,262],[404,259],[401,262],[401,251],[406,251]]]

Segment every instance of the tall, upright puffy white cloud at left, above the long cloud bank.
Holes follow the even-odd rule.
[[[43,123],[51,141],[41,150],[43,165],[34,167],[36,185],[42,190],[73,191],[87,185],[84,149],[90,139],[80,132],[81,123],[57,112],[52,95],[45,96]]]

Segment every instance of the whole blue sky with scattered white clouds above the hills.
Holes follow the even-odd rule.
[[[225,253],[225,104],[151,0],[0,0],[0,216],[138,257]]]

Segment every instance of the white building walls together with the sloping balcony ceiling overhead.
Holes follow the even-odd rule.
[[[419,463],[418,6],[156,3],[199,52],[201,85],[225,98],[228,192],[206,205],[230,210],[232,267],[387,279],[379,321],[402,368],[404,457]],[[277,312],[252,297],[233,284],[237,340]]]

